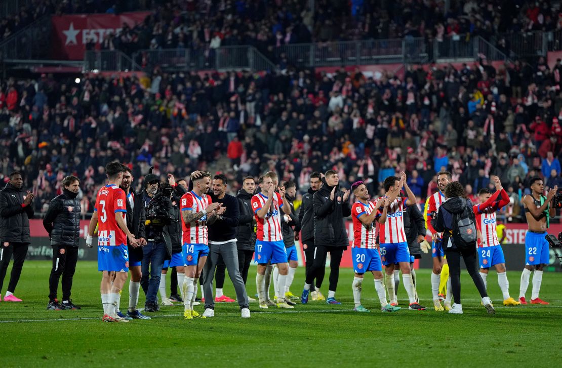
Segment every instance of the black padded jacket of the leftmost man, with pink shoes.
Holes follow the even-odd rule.
[[[31,243],[29,219],[33,217],[33,203],[21,207],[26,192],[7,183],[0,190],[0,242]]]

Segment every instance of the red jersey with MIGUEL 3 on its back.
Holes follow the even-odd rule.
[[[121,212],[126,220],[127,205],[125,192],[115,184],[105,185],[99,189],[94,211],[98,212],[98,246],[124,246],[127,235],[117,225],[115,213]]]

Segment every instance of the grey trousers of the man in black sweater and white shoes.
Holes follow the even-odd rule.
[[[205,268],[203,269],[205,308],[215,309],[212,280],[215,278],[216,263],[219,261],[219,257],[223,257],[228,276],[234,285],[234,290],[236,290],[236,299],[240,309],[248,308],[250,301],[248,301],[246,286],[244,286],[244,280],[242,280],[242,275],[238,269],[238,249],[235,242],[220,245],[209,244],[209,257],[207,257],[207,263],[205,263]]]

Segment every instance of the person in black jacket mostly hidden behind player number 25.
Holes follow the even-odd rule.
[[[422,243],[425,239],[425,220],[423,218],[422,212],[418,209],[418,206],[411,205],[404,208],[404,232],[406,233],[406,241],[408,243],[408,250],[410,251],[410,272],[412,275],[412,281],[414,283],[414,289],[416,289],[416,271],[414,270],[414,260],[422,258]],[[400,285],[400,277],[397,267],[394,271],[394,293],[395,297],[392,298],[392,303],[396,303],[398,296],[398,285]],[[418,290],[415,290],[416,301],[418,298]]]

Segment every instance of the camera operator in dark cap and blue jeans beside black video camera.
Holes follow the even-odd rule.
[[[158,189],[160,189],[160,180],[155,174],[148,174],[144,177],[144,191],[142,193],[145,211],[155,198]],[[160,193],[158,193],[160,194]],[[160,196],[158,201],[165,207],[164,215],[173,218],[174,209],[169,197]],[[140,286],[146,294],[146,303],[144,303],[144,311],[156,312],[160,310],[158,307],[158,287],[160,286],[160,274],[164,261],[169,260],[172,255],[172,243],[167,225],[164,221],[156,221],[151,219],[149,213],[146,213],[145,233],[147,244],[142,248],[142,279]],[[150,271],[149,271],[150,269]]]

